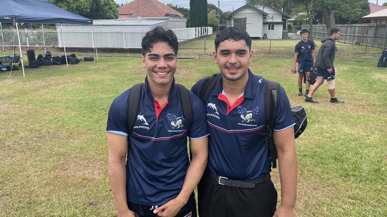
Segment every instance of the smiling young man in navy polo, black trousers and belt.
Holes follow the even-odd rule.
[[[266,80],[248,68],[253,57],[250,36],[236,27],[218,32],[213,56],[222,76],[205,102],[210,137],[207,168],[198,185],[199,216],[294,217],[295,122],[285,91],[278,93],[273,126],[282,193],[276,209],[277,191],[264,146]],[[204,80],[192,87],[196,95]]]

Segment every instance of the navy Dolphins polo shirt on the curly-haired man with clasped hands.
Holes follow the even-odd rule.
[[[175,80],[168,100],[160,107],[151,95],[146,78],[139,114],[133,132],[128,135],[129,93],[130,89],[111,104],[106,131],[129,137],[127,200],[141,205],[162,205],[175,198],[182,189],[189,165],[187,136],[200,139],[209,135],[205,108],[201,100],[190,92],[192,125],[188,129]]]

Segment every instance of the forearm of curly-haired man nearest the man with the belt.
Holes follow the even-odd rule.
[[[200,178],[202,178],[206,165],[207,153],[198,154],[192,157],[190,166],[188,166],[187,175],[185,175],[182,190],[176,198],[187,203],[188,198],[199,183]]]

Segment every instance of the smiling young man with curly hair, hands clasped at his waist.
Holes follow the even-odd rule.
[[[195,217],[193,191],[207,164],[205,107],[190,92],[192,124],[188,128],[173,76],[178,50],[173,31],[156,27],[146,33],[141,46],[147,76],[133,131],[127,129],[131,89],[111,104],[106,127],[117,213],[119,217]],[[191,139],[191,163],[187,136]]]

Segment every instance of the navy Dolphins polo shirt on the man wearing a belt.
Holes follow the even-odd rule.
[[[219,78],[205,106],[210,137],[207,168],[218,176],[234,180],[251,180],[269,173],[264,97],[266,80],[248,70],[245,92],[229,105]],[[199,93],[205,78],[198,81],[192,92]],[[295,124],[288,97],[283,88],[278,94],[277,113],[273,129],[281,131]]]

